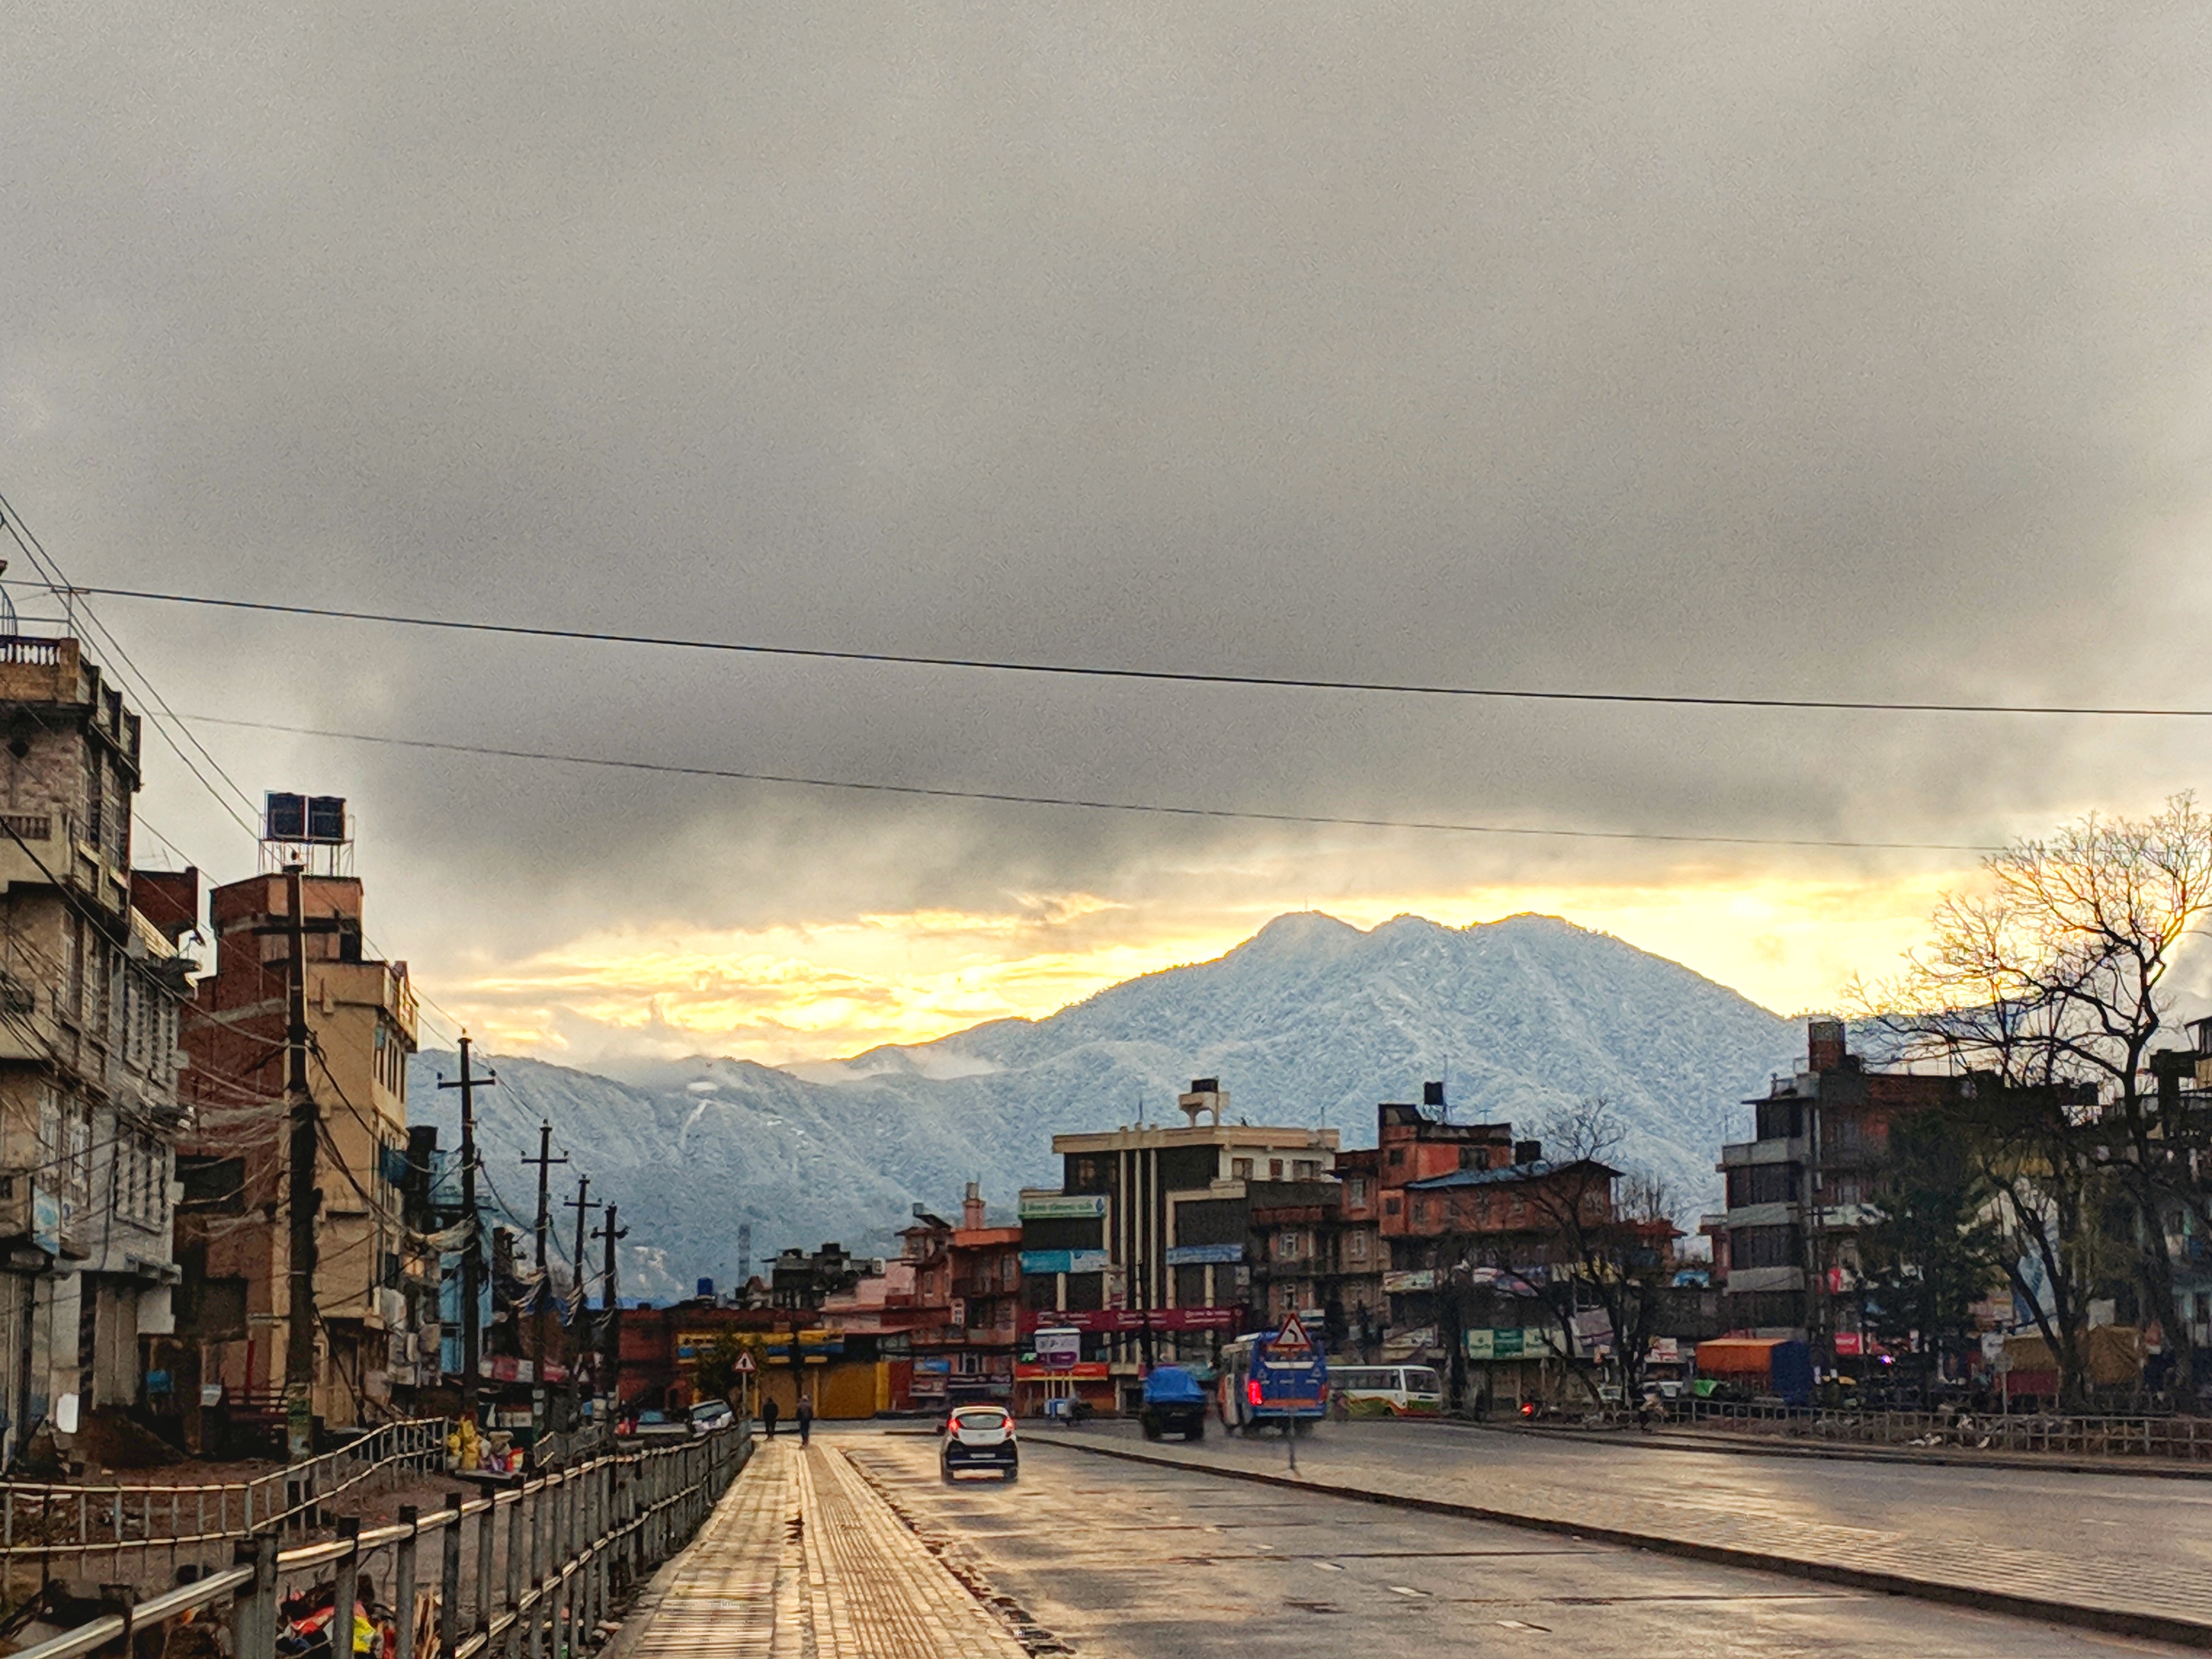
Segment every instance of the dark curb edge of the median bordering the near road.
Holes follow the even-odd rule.
[[[1942,1579],[1920,1579],[1909,1573],[1882,1573],[1860,1566],[1836,1566],[1832,1562],[1801,1562],[1792,1555],[1772,1555],[1767,1551],[1750,1551],[1734,1544],[1699,1544],[1694,1540],[1670,1537],[1666,1533],[1632,1533],[1619,1526],[1584,1526],[1579,1522],[1551,1520],[1546,1515],[1524,1515],[1511,1509],[1486,1509],[1484,1504],[1460,1504],[1442,1498],[1411,1498],[1407,1493],[1340,1486],[1323,1480],[1294,1480],[1292,1475],[1276,1475],[1265,1469],[1221,1469],[1217,1464],[1186,1462],[1181,1458],[1164,1458],[1128,1447],[1084,1444],[1077,1440],[1031,1440],[1031,1444],[1060,1447],[1064,1451],[1088,1451],[1093,1458],[1121,1458],[1124,1462],[1146,1462],[1159,1469],[1188,1469],[1201,1475],[1221,1475],[1223,1480],[1245,1480],[1256,1486],[1285,1486],[1290,1491],[1321,1493],[1323,1498],[1349,1498],[1360,1504],[1383,1504],[1385,1509],[1416,1509],[1429,1515],[1495,1522],[1535,1533],[1595,1540],[1599,1544],[1624,1544],[1628,1548],[1657,1551],[1661,1555],[1681,1555],[1692,1562],[1747,1566],[1759,1573],[1781,1573],[1794,1579],[1843,1584],[1858,1590],[1882,1590],[1885,1595],[1909,1595],[1920,1601],[1947,1601],[1951,1606],[1978,1608],[1982,1613],[2006,1613],[2022,1619],[2039,1619],[2044,1624],[2066,1624],[2079,1630],[2101,1630],[2104,1635],[2148,1637],[2152,1641],[2172,1641],[2185,1648],[2212,1648],[2212,1624],[2168,1613],[2084,1608],[2073,1601],[2055,1601],[2013,1590],[1982,1590],[1966,1584],[1944,1584]]]

